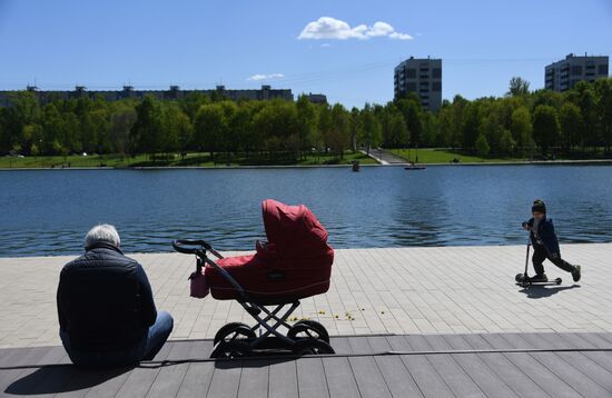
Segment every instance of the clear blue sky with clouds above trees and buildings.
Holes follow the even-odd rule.
[[[362,107],[411,56],[474,99],[542,88],[571,52],[612,56],[612,0],[0,0],[0,90],[270,84]]]

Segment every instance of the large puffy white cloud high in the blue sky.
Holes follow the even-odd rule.
[[[297,37],[298,40],[304,39],[361,39],[366,40],[375,37],[388,37],[396,40],[411,40],[412,36],[407,33],[396,32],[395,29],[382,21],[374,22],[374,26],[358,24],[352,28],[345,21],[332,17],[320,17],[316,21],[308,22]]]

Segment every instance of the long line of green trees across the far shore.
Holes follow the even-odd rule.
[[[303,158],[312,152],[384,148],[453,148],[487,156],[610,153],[612,79],[565,92],[530,91],[513,78],[503,97],[444,100],[424,110],[415,96],[346,109],[297,101],[230,101],[193,93],[179,100],[99,97],[52,100],[20,91],[0,108],[0,153],[246,153]]]

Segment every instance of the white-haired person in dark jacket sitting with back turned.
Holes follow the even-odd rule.
[[[156,310],[145,270],[119,245],[115,227],[93,227],[85,237],[85,255],[61,270],[60,338],[75,365],[152,359],[172,331],[172,317]]]

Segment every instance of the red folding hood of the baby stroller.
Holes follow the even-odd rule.
[[[306,206],[267,199],[261,211],[269,249],[274,248],[279,259],[314,258],[329,250],[327,231]]]

